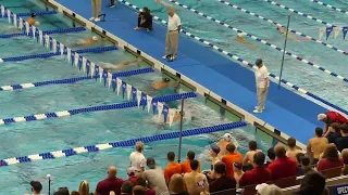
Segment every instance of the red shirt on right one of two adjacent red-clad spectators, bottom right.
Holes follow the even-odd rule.
[[[296,161],[286,156],[278,157],[271,165],[269,165],[269,169],[272,174],[272,180],[296,177],[297,174]]]

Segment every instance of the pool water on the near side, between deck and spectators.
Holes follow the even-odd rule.
[[[33,4],[30,1],[11,1],[4,3],[9,3],[4,4],[9,6],[20,6],[11,9],[17,13],[45,8],[42,4]],[[25,9],[21,8],[22,3],[26,4]],[[42,29],[67,28],[74,25],[70,20],[59,14],[46,16],[45,18],[44,21],[39,20],[42,23]],[[50,24],[49,22],[51,21],[54,24]],[[55,21],[61,22],[55,23]],[[0,29],[2,29],[2,26],[8,26],[4,20],[0,25]],[[78,26],[78,24],[75,25]],[[9,34],[9,31],[5,31],[5,34]],[[91,32],[87,30],[77,34],[52,35],[53,38],[66,44],[90,36]],[[44,47],[37,44],[35,40],[27,37],[1,39],[0,44],[3,44],[0,48],[0,57],[48,52]],[[111,46],[111,43],[104,41],[100,46]],[[97,64],[101,62],[116,64],[125,60],[135,58],[135,56],[123,50],[86,53],[83,55]],[[149,65],[142,63],[138,66],[129,66],[122,69],[122,72],[142,67],[149,67]],[[0,70],[3,78],[0,81],[1,86],[84,76],[83,73],[72,67],[70,63],[60,56],[3,63],[0,66]],[[162,79],[163,76],[166,77],[159,72],[154,72],[122,79],[137,89],[147,92],[152,81]],[[183,86],[179,92],[184,91],[189,91],[189,89]],[[171,89],[161,90],[154,93],[153,96],[174,93]],[[0,118],[122,102],[126,102],[126,100],[122,99],[122,95],[115,95],[112,90],[104,88],[102,83],[95,80],[84,80],[67,84],[51,84],[24,90],[0,91],[0,108],[3,110],[0,113]],[[173,104],[178,104],[178,102]],[[194,120],[185,120],[185,130],[238,120],[228,113],[226,113],[224,118],[221,117],[220,113],[216,112],[219,107],[212,105],[211,102],[202,96],[187,100],[185,105],[186,115],[195,116]],[[165,129],[159,128],[156,118],[157,116],[147,114],[141,109],[127,108],[1,126],[0,156],[3,159],[177,131],[178,125]],[[194,150],[202,162],[202,169],[207,169],[209,167],[209,160],[207,159],[209,144],[215,142],[222,133],[224,132],[184,138],[182,158],[185,158],[188,150]],[[263,151],[269,148],[274,141],[273,138],[265,133],[256,132],[252,126],[235,129],[232,133],[238,141],[241,153],[246,152],[247,143],[250,140],[257,140],[260,148]],[[145,155],[156,157],[157,162],[164,167],[166,165],[165,154],[169,151],[176,152],[177,144],[177,139],[146,144]],[[53,190],[59,186],[76,190],[82,180],[90,182],[91,190],[94,190],[97,182],[105,177],[105,170],[110,165],[116,165],[119,176],[126,178],[125,169],[129,165],[128,155],[132,151],[133,148],[129,147],[115,148],[76,155],[69,158],[2,167],[0,186],[2,193],[23,194],[30,190],[28,185],[30,180],[39,180],[45,182],[44,193],[47,193],[45,176],[50,173],[52,174]]]

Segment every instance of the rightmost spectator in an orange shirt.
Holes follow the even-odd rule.
[[[224,157],[222,157],[222,161],[226,165],[226,176],[227,177],[233,177],[233,164],[234,162],[241,162],[243,161],[243,157],[240,153],[235,153],[235,145],[233,143],[229,143],[226,146],[226,151],[228,152],[228,154]]]

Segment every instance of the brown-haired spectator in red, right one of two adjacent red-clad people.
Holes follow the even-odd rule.
[[[283,145],[276,145],[274,147],[274,153],[277,159],[269,165],[272,180],[296,177],[297,164],[295,160],[286,156],[285,147]]]

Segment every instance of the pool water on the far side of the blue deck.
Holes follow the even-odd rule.
[[[156,4],[153,1],[129,0],[128,2],[140,8],[149,6],[149,9],[153,10],[154,15],[164,20],[167,18],[165,9],[159,4]],[[260,39],[263,39],[283,49],[284,36],[277,32],[275,25],[233,9],[219,2],[217,0],[177,0],[177,2],[191,6],[199,12],[210,15],[248,34],[254,35]],[[233,1],[232,3],[257,13],[263,17],[271,18],[274,22],[281,23],[282,25],[287,24],[287,15],[290,14],[290,12],[264,1],[237,0]],[[327,8],[321,8],[321,5],[310,1],[289,2],[284,0],[278,1],[278,3],[286,4],[287,6],[299,10],[303,13],[310,13],[313,16],[335,25],[344,25],[348,17],[346,14],[336,13]],[[252,50],[243,43],[235,41],[237,36],[236,31],[209,21],[208,18],[202,17],[185,8],[178,5],[174,6],[176,10],[178,10],[178,14],[183,22],[183,28],[185,30],[195,34],[248,62],[254,62],[256,58],[261,57],[265,61],[270,73],[279,75],[282,52],[246,37],[248,42],[253,43],[259,48],[257,50]],[[322,24],[319,24],[314,21],[307,20],[294,13],[291,14],[290,28],[308,36],[312,36],[318,39],[319,28],[322,26]],[[319,64],[321,67],[330,69],[338,75],[341,75],[346,78],[348,77],[348,68],[344,64],[347,57],[346,55],[313,41],[306,41],[301,37],[297,38],[300,39],[301,42],[288,40],[287,51],[313,62],[314,64]],[[332,35],[327,42],[346,51],[347,41],[341,38],[341,34],[337,39],[333,39]],[[288,55],[285,56],[283,78],[291,83],[307,89],[308,91],[327,100],[333,104],[336,104],[345,109],[348,108],[348,101],[345,99],[348,93],[347,82]]]

